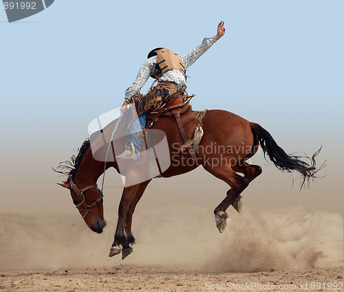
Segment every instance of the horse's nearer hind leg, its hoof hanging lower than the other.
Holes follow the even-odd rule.
[[[228,214],[226,213],[227,208],[245,190],[250,181],[246,177],[238,175],[229,164],[225,166],[204,167],[204,169],[218,179],[222,179],[222,181],[225,181],[230,186],[226,198],[214,210],[216,227],[222,233],[226,228],[226,219],[228,218]]]

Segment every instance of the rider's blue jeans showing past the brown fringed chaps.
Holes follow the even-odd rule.
[[[178,85],[180,88],[183,88],[181,85],[179,85],[176,82],[172,82],[175,85]],[[169,96],[169,91],[166,89],[161,90],[156,90],[155,91],[155,96],[164,96],[165,98],[167,96]],[[143,104],[146,102],[146,98],[147,96],[142,96],[142,102]],[[138,102],[135,103],[136,106],[136,111],[138,111]],[[130,127],[130,138],[131,141],[133,142],[133,147],[135,148],[136,153],[140,153],[141,152],[141,139],[142,137],[138,137],[138,131],[142,128],[146,127],[146,117],[147,117],[147,111],[145,111],[144,113],[141,113],[138,116],[138,119],[135,119],[135,121],[133,122],[133,124]]]

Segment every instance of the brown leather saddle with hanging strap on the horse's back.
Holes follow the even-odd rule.
[[[200,140],[203,136],[202,118],[204,117],[206,111],[200,111],[197,113],[197,115],[194,115],[191,112],[191,109],[191,102],[189,100],[185,102],[183,96],[178,96],[178,98],[174,98],[171,100],[171,102],[166,104],[163,109],[147,113],[146,128],[151,127],[153,123],[156,122],[160,117],[175,117],[180,135],[182,135],[182,138],[184,139],[184,145],[180,146],[180,150],[184,151],[186,148],[188,148],[191,157],[194,161],[196,161],[195,150],[197,150],[197,146],[200,144]],[[189,139],[189,137],[186,135],[182,120],[180,118],[180,116],[186,111],[189,111],[197,120],[197,127],[195,128],[193,139]]]

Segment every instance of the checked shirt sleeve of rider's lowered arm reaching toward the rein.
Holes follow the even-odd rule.
[[[138,71],[138,76],[134,80],[133,84],[125,91],[125,98],[131,100],[132,96],[136,93],[139,93],[140,89],[147,82],[149,76],[154,73],[155,63],[157,62],[158,57],[153,56],[148,60],[145,60],[143,65]]]

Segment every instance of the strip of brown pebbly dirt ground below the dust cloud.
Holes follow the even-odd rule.
[[[343,267],[199,273],[178,267],[118,265],[101,269],[7,271],[0,276],[1,291],[343,291]]]

